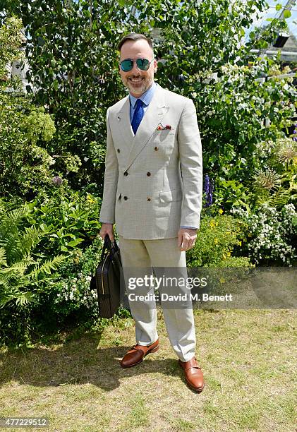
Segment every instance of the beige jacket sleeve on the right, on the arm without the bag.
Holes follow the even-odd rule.
[[[200,227],[202,208],[202,147],[193,100],[188,99],[178,126],[183,183],[181,226]]]

